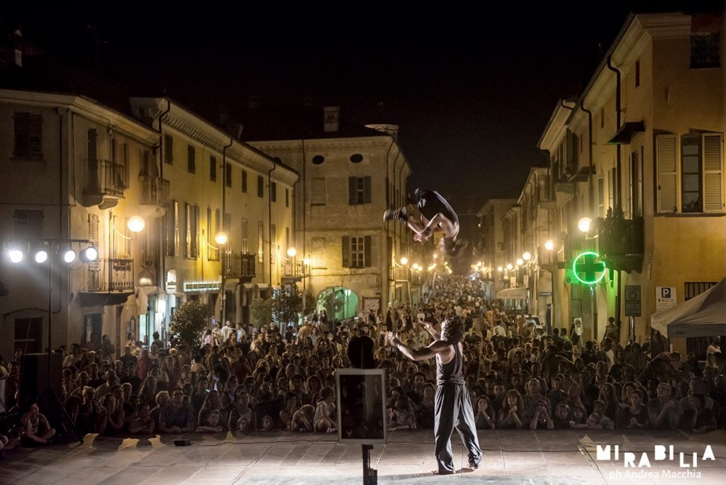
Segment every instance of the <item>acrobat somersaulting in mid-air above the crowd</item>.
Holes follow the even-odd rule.
[[[414,240],[427,241],[436,229],[441,230],[443,237],[439,240],[441,254],[452,265],[457,273],[468,271],[467,258],[471,255],[467,240],[459,239],[459,216],[444,197],[434,190],[416,189],[414,200],[417,211],[404,205],[399,209],[388,209],[383,213],[383,221],[399,220],[414,232]]]

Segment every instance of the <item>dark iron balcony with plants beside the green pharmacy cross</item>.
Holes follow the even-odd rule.
[[[600,256],[611,269],[629,273],[643,269],[643,218],[624,219],[621,211],[608,211],[597,219]]]

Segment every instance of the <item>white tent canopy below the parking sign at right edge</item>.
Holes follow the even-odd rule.
[[[726,278],[680,305],[654,313],[650,326],[668,338],[726,335]]]

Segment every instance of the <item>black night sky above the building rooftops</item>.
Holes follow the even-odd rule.
[[[484,199],[518,197],[529,167],[544,164],[537,141],[558,99],[585,86],[631,9],[56,3],[30,0],[5,18],[76,52],[95,36],[102,62],[208,109],[248,94],[340,103],[341,117],[346,106],[381,105],[388,119],[371,122],[399,125],[412,187]]]

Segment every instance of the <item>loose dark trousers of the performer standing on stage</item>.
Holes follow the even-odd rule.
[[[474,410],[464,384],[444,383],[436,388],[433,408],[433,436],[436,439],[436,461],[439,473],[454,472],[452,431],[454,426],[469,452],[469,462],[481,462],[481,448],[476,436]]]

